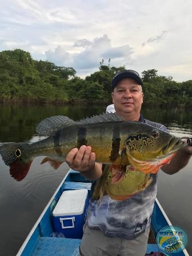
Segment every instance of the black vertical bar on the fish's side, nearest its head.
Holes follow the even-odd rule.
[[[113,138],[111,143],[111,154],[109,159],[111,161],[115,161],[119,156],[119,147],[120,147],[120,132],[118,127],[114,127],[113,129]]]

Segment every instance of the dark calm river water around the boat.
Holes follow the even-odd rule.
[[[40,139],[37,123],[52,115],[67,115],[78,120],[105,111],[105,106],[0,106],[0,145],[5,142],[33,142]],[[177,109],[147,109],[146,119],[163,123],[171,134],[192,137],[191,111]],[[42,158],[35,158],[26,178],[15,181],[0,157],[0,256],[13,256],[21,247],[39,214],[65,176],[68,166],[63,163],[54,170]],[[177,174],[159,171],[157,198],[173,225],[189,236],[187,250],[192,255],[192,159]]]

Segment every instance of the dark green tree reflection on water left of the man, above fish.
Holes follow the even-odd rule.
[[[0,106],[0,142],[30,141],[39,122],[53,115],[78,120],[105,111],[103,106]]]

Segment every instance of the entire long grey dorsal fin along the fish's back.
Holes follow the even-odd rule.
[[[41,123],[37,125],[37,133],[42,136],[50,136],[71,125],[90,125],[93,123],[108,123],[118,121],[124,120],[115,113],[94,115],[93,117],[83,118],[77,122],[64,115],[55,115],[54,117],[49,117],[41,121]]]

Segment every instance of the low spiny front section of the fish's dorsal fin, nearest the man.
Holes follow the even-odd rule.
[[[116,113],[103,113],[101,115],[94,115],[93,117],[83,118],[80,121],[76,122],[79,125],[90,125],[93,123],[107,123],[113,121],[125,121]]]

